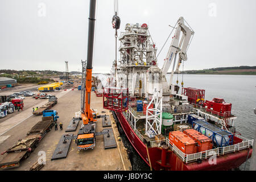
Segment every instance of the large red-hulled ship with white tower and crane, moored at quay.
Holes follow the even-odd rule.
[[[253,139],[236,131],[232,104],[222,98],[205,100],[204,89],[184,88],[182,81],[180,90],[172,82],[187,61],[194,34],[183,17],[172,31],[170,48],[159,68],[148,25],[126,24],[118,37],[118,64],[113,62],[111,76],[103,85],[104,108],[112,110],[151,169],[237,169],[251,157]]]

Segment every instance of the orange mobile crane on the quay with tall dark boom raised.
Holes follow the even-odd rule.
[[[86,63],[86,80],[84,81],[85,64],[82,61],[82,86],[81,86],[81,118],[82,126],[76,137],[77,150],[93,149],[96,136],[109,134],[108,132],[96,132],[97,114],[90,109],[90,92],[92,89],[92,60],[95,27],[96,0],[90,0],[89,27],[88,27],[88,49]],[[86,85],[86,86],[85,86]]]

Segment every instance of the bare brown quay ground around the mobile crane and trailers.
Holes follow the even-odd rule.
[[[61,92],[67,93],[58,99],[58,104],[53,106],[52,109],[59,113],[59,120],[57,123],[63,123],[63,130],[58,129],[57,131],[54,131],[54,129],[52,129],[49,131],[39,143],[39,146],[35,148],[35,151],[32,152],[30,157],[20,163],[20,167],[9,170],[28,170],[30,166],[38,160],[40,157],[40,152],[45,152],[46,154],[46,165],[41,170],[131,170],[131,164],[127,159],[126,148],[123,147],[122,141],[119,142],[116,140],[118,143],[117,148],[104,150],[104,139],[102,135],[96,137],[96,147],[94,150],[77,151],[76,143],[73,140],[71,142],[67,158],[51,160],[52,154],[55,151],[60,137],[63,134],[67,134],[65,133],[66,127],[68,126],[72,117],[75,116],[75,112],[80,110],[81,92],[79,90],[69,89]],[[93,92],[91,99],[93,101],[91,102],[91,107],[97,109],[98,114],[102,114],[101,111],[104,110],[102,108],[102,97],[96,97],[96,94]],[[26,98],[24,101],[27,105],[29,105],[30,102],[34,104],[37,102],[32,98]],[[109,114],[109,112],[106,111],[106,114]],[[29,131],[32,126],[40,121],[41,117],[41,115],[32,115],[24,122],[19,123],[19,125],[13,127],[13,129],[3,134],[0,137],[0,152],[7,150],[7,148],[15,144],[18,139],[26,137],[27,131]],[[115,132],[115,137],[117,138],[119,133],[114,122],[112,125]],[[80,127],[81,121],[79,122],[79,126],[77,126],[77,130],[73,132],[74,135],[77,134]],[[96,131],[101,130],[101,120],[99,120]],[[72,132],[69,132],[69,134],[71,133]],[[5,155],[0,155],[0,161]]]

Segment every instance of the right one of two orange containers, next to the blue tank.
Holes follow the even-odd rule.
[[[197,152],[203,152],[212,149],[212,139],[199,133],[194,129],[188,129],[183,131],[184,134],[191,137],[197,143]]]

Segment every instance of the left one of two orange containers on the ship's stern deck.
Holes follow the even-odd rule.
[[[175,144],[185,154],[196,153],[196,142],[181,131],[172,131],[169,133],[171,144]]]

